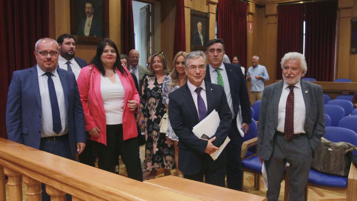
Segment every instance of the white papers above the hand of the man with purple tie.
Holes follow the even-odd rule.
[[[217,128],[220,125],[220,121],[220,116],[218,115],[218,112],[214,109],[211,114],[208,114],[206,118],[204,118],[202,121],[200,121],[200,123],[196,124],[196,126],[193,127],[192,132],[198,138],[204,138],[202,137],[203,134],[208,136],[208,138],[211,138],[215,135]]]

